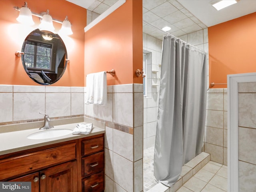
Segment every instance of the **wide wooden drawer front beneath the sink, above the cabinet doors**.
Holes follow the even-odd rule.
[[[75,143],[7,158],[0,161],[0,180],[75,158]]]

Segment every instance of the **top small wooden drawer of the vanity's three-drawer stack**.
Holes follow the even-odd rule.
[[[103,137],[82,141],[82,155],[93,154],[104,150]]]

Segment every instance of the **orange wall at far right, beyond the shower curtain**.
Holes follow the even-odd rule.
[[[228,74],[256,72],[256,12],[209,27],[208,40],[210,83],[226,83]]]

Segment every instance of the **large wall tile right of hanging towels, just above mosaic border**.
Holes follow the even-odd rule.
[[[133,94],[113,94],[113,122],[133,127]]]

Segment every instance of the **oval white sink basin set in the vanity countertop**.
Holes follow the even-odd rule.
[[[32,133],[27,136],[28,139],[49,139],[55,137],[61,137],[72,133],[70,129],[48,129],[39,132]]]

